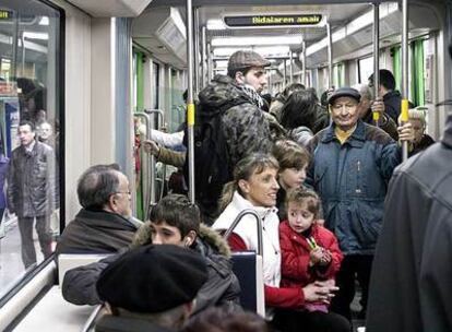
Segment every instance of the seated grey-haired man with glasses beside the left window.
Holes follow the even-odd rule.
[[[76,189],[83,206],[64,228],[59,253],[112,253],[127,247],[141,224],[132,217],[129,180],[118,165],[90,167]]]

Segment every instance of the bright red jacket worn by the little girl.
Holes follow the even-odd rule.
[[[316,280],[334,278],[340,270],[343,256],[334,234],[322,226],[313,225],[312,237],[318,246],[331,251],[332,260],[324,268],[309,266],[311,247],[306,237],[294,232],[287,221],[279,224],[282,287],[305,287]]]

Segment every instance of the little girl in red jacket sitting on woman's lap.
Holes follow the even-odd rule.
[[[282,253],[282,281],[284,287],[304,287],[319,281],[331,281],[343,259],[337,239],[316,222],[320,199],[306,188],[288,191],[286,197],[287,221],[279,224]],[[324,303],[306,304],[308,311],[328,312]]]

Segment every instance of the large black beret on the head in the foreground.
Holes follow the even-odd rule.
[[[188,248],[151,245],[131,250],[97,281],[100,299],[132,312],[162,312],[190,303],[207,280],[204,258]]]

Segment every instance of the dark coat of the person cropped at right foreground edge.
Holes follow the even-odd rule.
[[[373,259],[368,332],[452,331],[452,116],[391,180]]]

